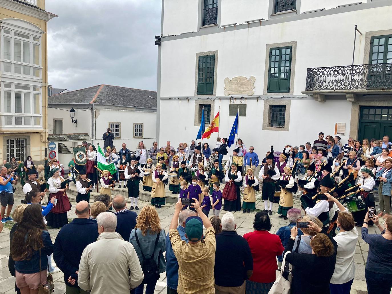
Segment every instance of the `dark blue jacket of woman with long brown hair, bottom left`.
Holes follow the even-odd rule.
[[[27,238],[27,236],[26,236]],[[42,231],[42,241],[44,242],[44,247],[41,249],[41,270],[48,268],[48,255],[53,253],[53,243],[50,239],[50,234],[48,231]],[[14,246],[14,245],[12,245]],[[15,246],[18,246],[15,244]],[[40,250],[33,251],[31,258],[29,260],[15,261],[15,269],[21,274],[34,274],[40,271]]]

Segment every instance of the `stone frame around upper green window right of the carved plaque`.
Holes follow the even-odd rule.
[[[290,91],[285,93],[267,93],[268,89],[268,75],[269,75],[269,53],[271,48],[276,47],[288,47],[292,46],[291,50],[291,71],[290,71]],[[296,65],[296,55],[297,55],[297,41],[283,42],[267,44],[265,48],[265,65],[264,65],[264,89],[263,94],[269,96],[279,96],[294,94],[294,77],[295,77],[295,65]]]

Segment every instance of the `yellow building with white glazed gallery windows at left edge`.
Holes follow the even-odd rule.
[[[45,0],[0,0],[0,160],[44,162],[47,147]]]

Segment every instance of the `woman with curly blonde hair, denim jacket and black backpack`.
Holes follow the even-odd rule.
[[[147,205],[143,207],[129,238],[129,242],[138,254],[142,268],[143,260],[153,258],[157,268],[159,267],[159,273],[166,271],[166,261],[162,254],[166,251],[165,237],[165,230],[161,229],[158,212],[156,212],[153,206]],[[135,294],[143,294],[144,284],[147,285],[146,294],[153,294],[158,279],[159,274],[156,275],[156,280],[154,281],[143,280],[136,287]]]

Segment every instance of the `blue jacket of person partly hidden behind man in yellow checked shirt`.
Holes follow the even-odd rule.
[[[185,237],[185,228],[183,226],[177,227],[178,233],[180,234],[181,240],[188,243],[188,239]],[[169,233],[166,236],[166,282],[167,287],[173,290],[177,290],[178,287],[178,261],[174,256],[173,248],[171,246]]]

